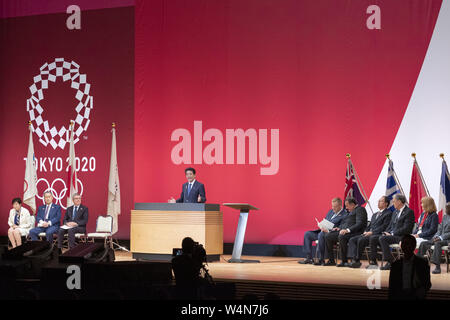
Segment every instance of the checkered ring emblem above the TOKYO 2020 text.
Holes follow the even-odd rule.
[[[29,87],[31,96],[27,99],[27,112],[30,115],[31,127],[39,138],[39,142],[44,146],[51,145],[53,149],[64,149],[70,141],[70,131],[67,121],[67,128],[62,126],[56,128],[51,126],[47,120],[42,118],[44,108],[41,101],[44,99],[44,90],[48,89],[48,83],[56,82],[61,77],[64,82],[70,80],[71,88],[75,89],[75,99],[78,105],[74,120],[74,143],[77,143],[80,136],[87,130],[90,120],[89,114],[94,107],[93,97],[89,95],[91,85],[86,81],[86,75],[80,74],[80,66],[72,61],[64,61],[64,58],[56,58],[51,63],[44,63],[40,68],[40,73],[33,78],[33,84]]]

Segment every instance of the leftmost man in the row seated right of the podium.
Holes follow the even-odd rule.
[[[335,226],[339,225],[342,218],[346,215],[345,209],[342,207],[341,198],[334,198],[331,200],[331,210],[328,211],[325,219],[332,222]],[[319,261],[314,263],[315,265],[322,265],[324,263],[324,254],[325,254],[325,240],[324,235],[328,233],[328,229],[316,229],[312,231],[305,232],[303,238],[303,252],[306,254],[306,259],[303,261],[299,261],[301,264],[312,264],[314,261],[312,260],[312,243],[316,240],[319,240],[317,244],[316,250],[317,257]]]

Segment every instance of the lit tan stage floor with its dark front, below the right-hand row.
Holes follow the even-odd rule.
[[[234,282],[236,298],[248,294],[263,298],[266,293],[275,293],[281,299],[386,299],[389,271],[368,272],[367,262],[360,269],[301,265],[294,257],[255,257],[261,263],[227,263],[231,256],[221,256],[220,262],[208,264],[215,281]],[[131,261],[131,253],[116,252],[116,261]],[[431,275],[431,299],[450,299],[450,273],[441,265],[443,273]],[[369,290],[369,277],[380,275],[380,289]],[[369,281],[375,284],[374,281]]]

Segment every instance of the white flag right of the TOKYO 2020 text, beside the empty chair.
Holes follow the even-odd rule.
[[[108,183],[108,215],[113,217],[113,231],[116,233],[119,228],[118,215],[120,214],[120,184],[119,184],[119,168],[117,166],[117,149],[116,149],[116,129],[112,129],[112,145],[111,145],[111,162],[109,166],[109,183]]]

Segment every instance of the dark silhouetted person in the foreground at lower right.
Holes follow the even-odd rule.
[[[430,266],[414,254],[416,238],[407,234],[401,238],[403,257],[392,263],[389,273],[389,299],[425,299],[431,288]]]

